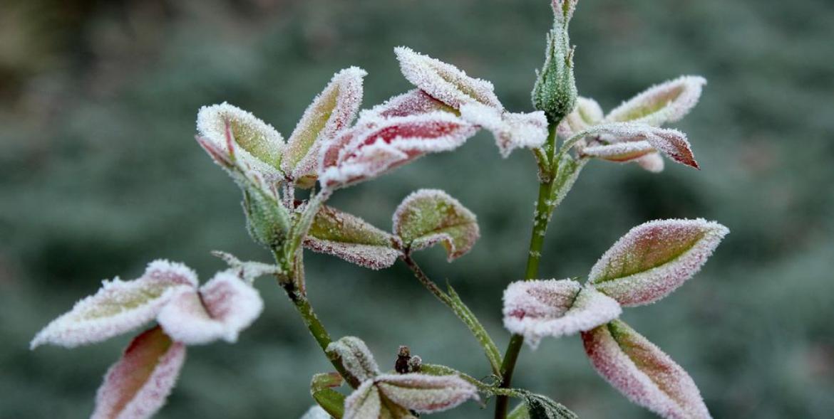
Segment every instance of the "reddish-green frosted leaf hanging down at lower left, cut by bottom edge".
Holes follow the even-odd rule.
[[[185,346],[160,327],[130,342],[98,388],[93,419],[143,419],[163,407],[185,361]]]

